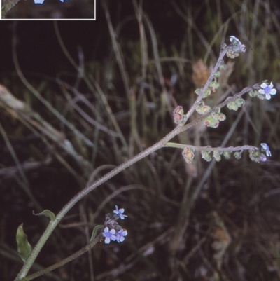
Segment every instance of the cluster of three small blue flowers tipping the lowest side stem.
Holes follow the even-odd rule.
[[[116,206],[116,210],[113,211],[113,217],[111,217],[110,214],[107,214],[107,219],[104,224],[106,227],[103,231],[105,244],[109,244],[111,240],[117,242],[123,242],[125,240],[127,230],[119,226],[116,222],[117,219],[125,219],[125,217],[127,217],[126,214],[123,214],[124,212],[125,209],[118,209],[118,206]]]

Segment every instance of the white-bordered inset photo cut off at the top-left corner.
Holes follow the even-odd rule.
[[[95,20],[96,0],[1,0],[1,20]]]

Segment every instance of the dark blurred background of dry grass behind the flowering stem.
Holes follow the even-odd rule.
[[[172,111],[188,111],[230,35],[247,51],[225,58],[205,102],[265,79],[278,93],[244,95],[245,107],[222,109],[217,129],[197,125],[173,142],[267,143],[272,157],[253,163],[244,151],[207,163],[197,153],[188,165],[180,149],[156,151],[76,204],[30,271],[84,247],[118,205],[125,242],[100,242],[37,280],[280,280],[279,34],[278,1],[267,0],[97,1],[96,21],[0,22],[1,280],[22,267],[18,226],[34,246],[48,224],[32,211],[57,214],[167,135]]]

